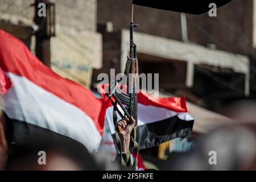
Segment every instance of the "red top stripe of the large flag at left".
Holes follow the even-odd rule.
[[[89,89],[57,75],[35,57],[20,40],[3,30],[0,30],[0,40],[0,67],[4,72],[26,77],[62,100],[79,107],[93,119],[102,134],[104,119],[100,119],[99,122],[102,102]]]

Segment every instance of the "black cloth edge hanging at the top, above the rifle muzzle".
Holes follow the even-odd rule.
[[[133,0],[133,4],[198,15],[209,11],[210,3],[216,3],[220,7],[230,1],[232,0]]]

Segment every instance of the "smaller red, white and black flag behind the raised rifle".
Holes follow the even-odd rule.
[[[105,86],[101,85],[102,97]],[[105,127],[99,152],[108,154],[112,160],[118,151],[115,147],[115,130],[113,123],[113,106],[104,98],[106,108]],[[117,106],[121,113],[123,111]],[[121,119],[117,114],[118,120]],[[137,142],[139,150],[158,146],[174,138],[183,138],[192,134],[194,118],[188,113],[185,97],[154,97],[138,93]]]

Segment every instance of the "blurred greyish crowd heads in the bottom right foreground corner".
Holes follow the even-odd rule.
[[[162,169],[256,170],[255,102],[237,102],[226,113],[233,123],[201,135],[189,154],[175,156]]]

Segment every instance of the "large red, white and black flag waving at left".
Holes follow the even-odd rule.
[[[96,152],[104,127],[102,100],[46,67],[14,36],[0,30],[0,40],[2,110],[11,143],[72,140]]]

